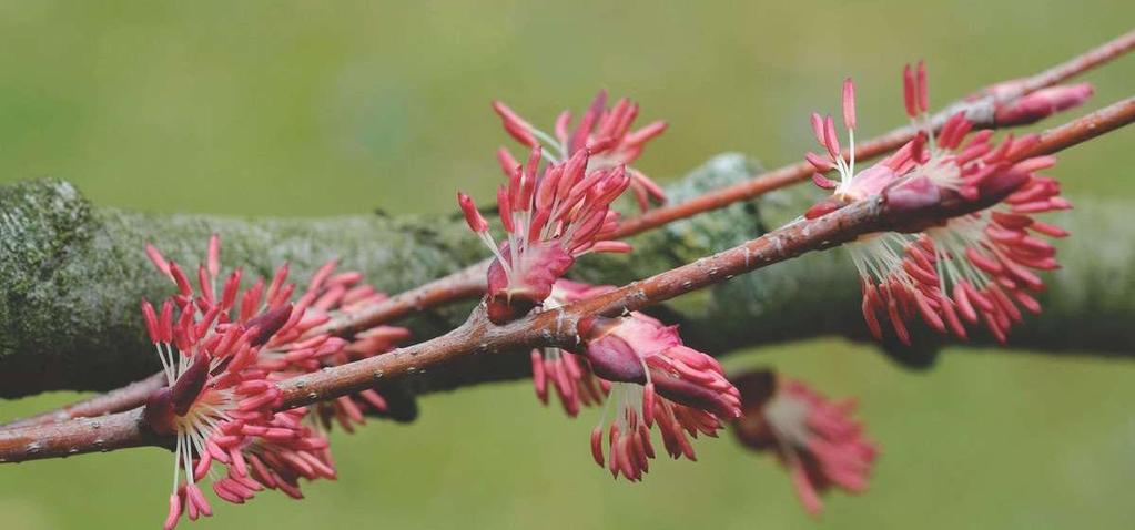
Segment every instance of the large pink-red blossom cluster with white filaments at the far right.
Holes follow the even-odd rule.
[[[964,112],[951,116],[935,135],[927,113],[926,70],[903,71],[907,115],[918,128],[914,140],[878,163],[856,173],[855,85],[843,85],[843,123],[849,155],[840,150],[831,116],[812,116],[825,155],[808,153],[813,180],[833,195],[808,210],[815,218],[843,205],[882,195],[896,211],[969,204],[960,217],[917,219],[901,232],[867,234],[847,245],[859,270],[863,313],[872,334],[882,338],[880,316],[890,320],[899,340],[909,344],[907,322],[918,316],[940,333],[966,339],[967,326],[983,323],[1000,342],[1023,320],[1022,309],[1040,311],[1033,293],[1044,288],[1037,270],[1058,268],[1056,249],[1041,236],[1063,237],[1062,229],[1033,216],[1070,208],[1059,184],[1039,171],[1053,157],[1023,158],[1034,135],[1000,143],[992,131],[974,133]],[[1041,91],[998,107],[1011,123],[1031,123],[1083,102],[1091,87],[1076,85]],[[970,134],[973,133],[973,134]],[[839,182],[823,174],[836,169]],[[958,209],[960,210],[960,209]]]

